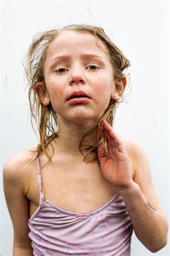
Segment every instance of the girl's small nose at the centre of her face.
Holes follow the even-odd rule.
[[[85,84],[86,79],[84,75],[84,71],[82,70],[82,67],[78,67],[78,65],[75,65],[72,68],[72,72],[69,78],[69,85],[74,85],[74,84]]]

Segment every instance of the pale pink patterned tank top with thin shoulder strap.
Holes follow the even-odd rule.
[[[29,218],[29,238],[37,256],[131,255],[132,223],[119,193],[88,213],[44,202],[38,165],[39,207]]]

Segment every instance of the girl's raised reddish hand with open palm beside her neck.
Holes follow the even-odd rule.
[[[113,128],[103,120],[106,131],[108,158],[104,147],[98,148],[98,158],[104,178],[115,189],[126,189],[133,184],[131,166],[124,143]]]

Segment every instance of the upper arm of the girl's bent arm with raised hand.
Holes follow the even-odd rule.
[[[147,198],[147,201],[151,206],[165,215],[152,183],[150,166],[145,150],[141,144],[135,140],[127,139],[126,144],[128,145],[128,151],[130,152],[132,160],[134,172],[133,181],[139,185],[142,193]]]

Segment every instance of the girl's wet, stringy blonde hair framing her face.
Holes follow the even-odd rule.
[[[33,120],[36,121],[36,125],[39,130],[39,136],[40,136],[40,143],[38,144],[38,147],[35,150],[32,150],[32,151],[30,150],[30,152],[34,152],[34,153],[36,152],[37,153],[36,158],[37,158],[39,152],[43,151],[48,158],[47,163],[51,162],[51,158],[53,156],[53,147],[52,147],[52,156],[49,156],[46,149],[48,148],[47,147],[48,144],[49,143],[51,144],[51,141],[57,137],[57,132],[58,132],[57,116],[56,116],[56,112],[52,108],[51,102],[49,103],[49,105],[44,106],[41,100],[38,98],[35,89],[40,84],[43,86],[42,89],[46,88],[46,84],[44,81],[44,62],[46,59],[47,48],[49,44],[53,40],[55,40],[57,36],[60,35],[60,33],[63,31],[78,31],[78,32],[84,32],[84,33],[90,33],[95,36],[96,45],[100,49],[101,49],[101,46],[98,44],[98,41],[103,42],[107,50],[110,63],[112,64],[113,76],[114,76],[113,80],[115,78],[122,78],[123,70],[130,66],[129,60],[123,55],[122,51],[119,50],[118,47],[109,39],[109,37],[105,34],[103,28],[101,27],[91,26],[89,24],[72,24],[62,29],[54,29],[50,31],[39,32],[36,35],[34,35],[32,43],[29,46],[28,52],[25,58],[23,59],[24,62],[22,62],[25,69],[25,75],[28,80],[27,86],[29,86],[29,104],[30,104],[30,112],[31,112],[31,123],[32,123],[33,130],[36,133],[34,129]],[[103,119],[105,119],[109,123],[109,125],[113,126],[115,109],[118,107],[119,103],[121,102],[116,102],[110,97],[109,105],[105,110],[103,116],[100,118],[99,122],[96,124],[95,128],[90,132],[88,132],[87,134],[85,134],[81,139],[80,145],[79,145],[80,152],[81,152],[81,149],[85,149],[88,151],[84,156],[85,162],[87,163],[99,162],[99,159],[98,159],[99,145],[103,145],[106,152],[108,153],[107,143],[105,138],[105,131],[103,130],[102,121]],[[86,136],[92,134],[94,131],[97,136],[98,143],[96,145],[90,145],[88,143],[85,143],[84,139],[86,138]],[[50,132],[52,133],[51,135],[49,135]],[[89,156],[90,152],[91,152],[90,154],[91,156]],[[33,161],[35,161],[36,158]]]

